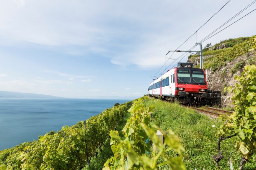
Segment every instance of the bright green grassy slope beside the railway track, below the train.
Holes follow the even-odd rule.
[[[194,110],[183,108],[179,104],[168,103],[154,98],[146,101],[146,105],[155,106],[153,113],[154,124],[165,131],[168,131],[168,129],[173,130],[182,139],[182,144],[186,150],[183,161],[188,170],[194,170],[195,168],[198,170],[217,169],[212,155],[217,154],[218,138],[215,137],[215,133],[221,125],[219,119],[212,120],[205,115],[196,113]],[[212,127],[213,125],[215,127]],[[220,161],[220,166],[223,170],[230,169],[228,164],[229,155],[231,155],[234,169],[238,169],[241,154],[234,149],[234,143],[235,137],[226,139],[221,144],[221,150],[225,156]],[[172,156],[172,154],[170,153],[169,156]],[[254,155],[254,162],[247,162],[244,169],[255,169],[255,164]]]

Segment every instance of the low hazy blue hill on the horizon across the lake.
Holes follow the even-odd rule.
[[[4,98],[61,98],[61,97],[43,95],[43,94],[0,91],[0,98],[1,97],[4,97]]]

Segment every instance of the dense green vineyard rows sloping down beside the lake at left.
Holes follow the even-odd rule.
[[[0,151],[0,169],[82,169],[87,157],[97,155],[109,131],[114,130],[132,102],[106,109],[101,114],[64,126],[58,132],[50,131],[37,141],[25,142]]]

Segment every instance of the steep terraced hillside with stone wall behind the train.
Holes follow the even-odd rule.
[[[225,87],[235,86],[244,66],[256,64],[256,36],[228,39],[203,50],[203,66],[206,72],[210,104],[233,107],[229,99],[233,94]],[[191,55],[187,62],[199,67],[199,57]]]

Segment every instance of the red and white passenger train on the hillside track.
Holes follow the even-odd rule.
[[[210,97],[204,69],[182,62],[150,83],[148,95],[182,104],[198,104]]]

